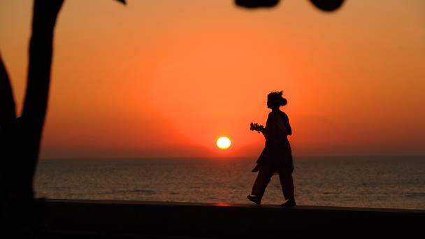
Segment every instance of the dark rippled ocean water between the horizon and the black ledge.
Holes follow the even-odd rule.
[[[254,158],[41,160],[36,196],[250,203]],[[425,157],[299,157],[298,205],[425,210]],[[273,176],[262,203],[284,201]]]

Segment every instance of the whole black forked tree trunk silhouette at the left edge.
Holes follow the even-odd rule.
[[[34,234],[37,227],[33,179],[48,107],[53,33],[63,2],[34,1],[27,90],[22,117],[18,119],[10,80],[0,59],[2,217],[8,231],[24,235]]]

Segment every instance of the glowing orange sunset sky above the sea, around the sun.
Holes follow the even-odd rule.
[[[32,1],[0,2],[20,112]],[[42,157],[257,156],[283,90],[295,156],[425,154],[425,2],[66,1]],[[215,146],[218,136],[229,150]]]

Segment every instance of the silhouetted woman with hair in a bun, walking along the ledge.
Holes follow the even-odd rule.
[[[292,161],[291,145],[287,136],[292,134],[291,125],[287,114],[280,110],[285,106],[287,99],[282,97],[282,92],[271,92],[267,96],[267,108],[271,109],[268,114],[266,127],[251,123],[251,130],[259,131],[266,138],[266,146],[257,159],[257,166],[252,172],[257,172],[257,179],[252,186],[252,192],[247,198],[257,204],[261,204],[268,182],[274,173],[279,174],[280,185],[283,196],[287,200],[282,207],[294,207],[294,181],[292,172],[294,163]]]

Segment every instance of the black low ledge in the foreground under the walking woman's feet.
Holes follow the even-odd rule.
[[[425,238],[425,210],[48,200],[46,238]]]

